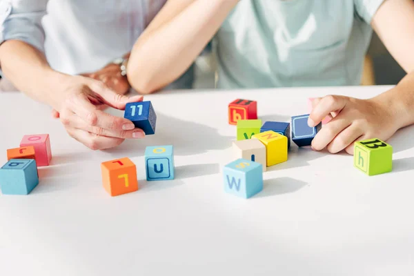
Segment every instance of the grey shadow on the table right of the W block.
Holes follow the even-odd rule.
[[[263,183],[262,193],[257,194],[256,197],[271,197],[273,195],[295,193],[306,185],[308,185],[306,182],[291,177],[267,179]]]

